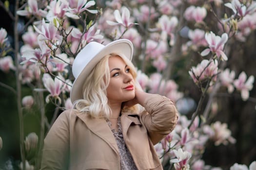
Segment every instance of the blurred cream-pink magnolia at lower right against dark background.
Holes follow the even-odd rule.
[[[227,128],[226,123],[220,123],[216,121],[211,124],[212,129],[214,130],[214,136],[211,138],[215,141],[215,145],[218,146],[221,143],[227,145],[228,142],[236,143],[236,139],[231,136],[231,131]]]

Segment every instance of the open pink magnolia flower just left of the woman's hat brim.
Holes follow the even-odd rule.
[[[62,80],[62,81],[61,81]],[[50,94],[46,97],[46,102],[49,102],[49,98],[53,97],[61,103],[61,99],[59,98],[59,94],[65,89],[66,84],[63,83],[63,77],[57,76],[52,79],[52,77],[45,73],[42,77],[44,87],[50,92]]]

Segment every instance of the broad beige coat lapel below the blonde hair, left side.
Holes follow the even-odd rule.
[[[77,113],[77,116],[94,134],[105,140],[109,146],[118,154],[118,145],[116,139],[105,119],[91,118],[89,115],[84,113]]]

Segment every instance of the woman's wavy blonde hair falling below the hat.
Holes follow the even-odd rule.
[[[79,112],[85,112],[93,118],[109,118],[112,114],[108,104],[106,89],[110,81],[110,72],[108,60],[111,56],[119,56],[112,53],[104,56],[98,64],[92,69],[88,77],[84,81],[82,88],[83,99],[79,99],[74,103],[75,109]],[[130,68],[130,72],[135,82],[137,73],[132,62],[126,57],[121,57],[124,63]],[[135,110],[135,108],[131,108]]]

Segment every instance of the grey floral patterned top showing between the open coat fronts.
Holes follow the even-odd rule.
[[[109,127],[111,128],[111,122],[108,119],[107,122]],[[134,163],[133,157],[124,142],[120,117],[118,118],[118,131],[116,132],[115,129],[111,129],[111,131],[117,141],[121,170],[138,170]]]

